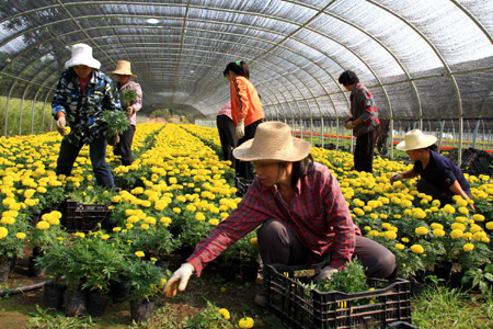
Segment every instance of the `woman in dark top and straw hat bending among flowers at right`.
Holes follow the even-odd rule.
[[[439,200],[442,205],[455,203],[454,195],[460,195],[465,200],[471,198],[471,186],[459,167],[432,150],[436,140],[435,136],[425,135],[420,129],[408,132],[404,140],[397,145],[397,149],[405,150],[414,161],[414,167],[390,175],[390,183],[421,175],[417,191]],[[471,207],[474,206],[471,204]]]

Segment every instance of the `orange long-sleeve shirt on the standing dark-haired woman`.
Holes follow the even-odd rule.
[[[264,118],[262,102],[255,87],[245,77],[238,76],[230,83],[231,116],[234,125],[244,118],[244,126]]]

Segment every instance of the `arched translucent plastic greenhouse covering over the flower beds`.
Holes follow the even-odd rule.
[[[355,71],[391,129],[421,127],[493,141],[490,0],[0,0],[0,117],[49,115],[70,46],[87,43],[104,72],[129,60],[140,116],[183,110],[215,118],[229,98],[226,65],[249,64],[268,120],[339,128]],[[34,111],[34,103],[44,110]],[[18,104],[18,103],[15,103]],[[18,114],[19,116],[19,114]],[[16,118],[19,122],[20,118]],[[34,118],[33,118],[34,121]],[[36,127],[15,134],[39,133]],[[473,136],[473,137],[472,137]]]

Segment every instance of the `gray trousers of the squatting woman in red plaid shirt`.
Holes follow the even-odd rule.
[[[265,222],[257,232],[259,251],[264,264],[307,264],[307,252],[293,231],[280,220]],[[395,270],[395,256],[386,247],[365,237],[356,236],[357,257],[367,268],[368,277],[385,279]]]

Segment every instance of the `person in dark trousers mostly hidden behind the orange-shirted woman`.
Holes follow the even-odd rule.
[[[217,129],[221,140],[222,158],[230,161],[230,167],[236,169],[236,160],[232,150],[238,146],[238,137],[236,135],[234,123],[231,118],[231,100],[229,100],[216,117]]]

